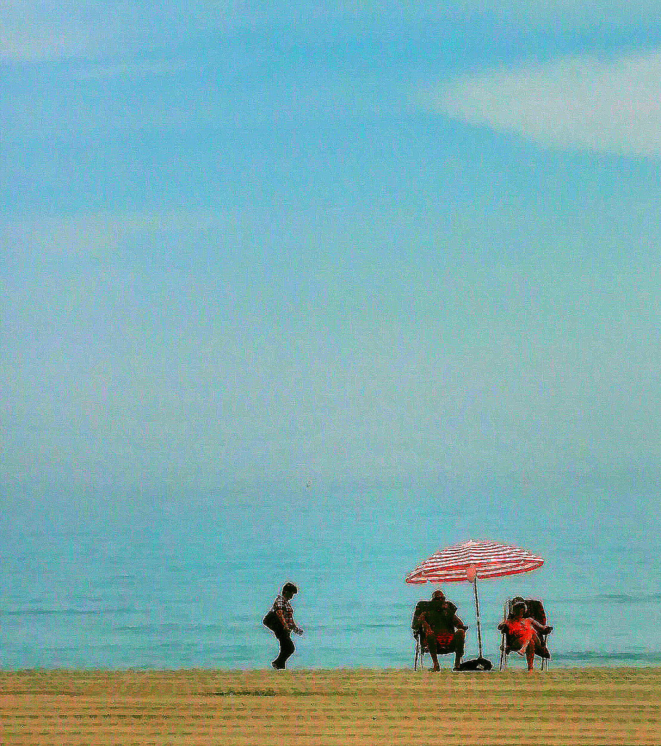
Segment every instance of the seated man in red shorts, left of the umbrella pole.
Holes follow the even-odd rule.
[[[454,653],[454,669],[459,668],[468,627],[456,611],[457,606],[447,601],[442,591],[434,591],[431,601],[420,601],[413,612],[413,633],[429,648],[432,671],[441,670],[438,656],[445,653]]]

